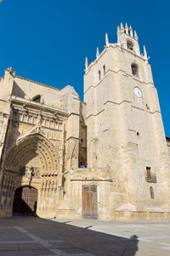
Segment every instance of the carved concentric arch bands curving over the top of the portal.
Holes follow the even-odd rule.
[[[20,163],[27,155],[30,155],[31,152],[34,152],[40,160],[42,173],[57,173],[59,155],[54,145],[38,133],[20,138],[15,145],[9,149],[5,160],[5,170],[19,172]]]

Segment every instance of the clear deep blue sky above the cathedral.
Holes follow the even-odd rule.
[[[94,61],[105,32],[116,43],[121,21],[145,44],[170,137],[170,3],[114,0],[3,0],[0,3],[0,75],[10,66],[22,77],[63,88],[71,84],[83,99],[84,60]]]

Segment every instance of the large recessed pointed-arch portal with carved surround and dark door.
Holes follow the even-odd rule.
[[[38,132],[20,138],[4,161],[3,209],[14,215],[33,215],[36,208],[41,214],[54,211],[58,179],[54,144]]]

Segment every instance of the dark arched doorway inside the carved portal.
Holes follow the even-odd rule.
[[[14,193],[13,214],[34,216],[37,211],[37,189],[31,186],[20,187]]]

